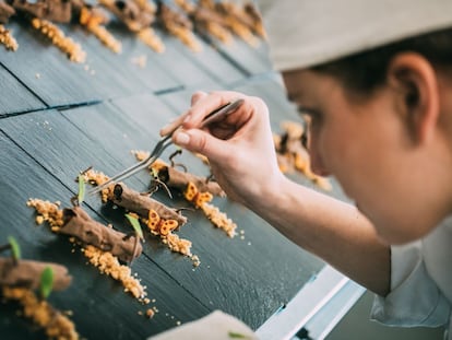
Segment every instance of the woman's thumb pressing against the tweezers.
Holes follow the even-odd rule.
[[[201,153],[212,160],[221,157],[227,152],[223,140],[198,129],[177,130],[173,140],[177,145],[191,152]]]

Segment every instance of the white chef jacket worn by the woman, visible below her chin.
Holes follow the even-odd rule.
[[[391,247],[391,292],[371,318],[391,326],[445,326],[452,340],[452,216],[425,238]]]

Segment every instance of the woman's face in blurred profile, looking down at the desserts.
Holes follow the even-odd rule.
[[[353,99],[334,78],[302,70],[283,73],[289,99],[310,120],[312,169],[333,175],[380,238],[400,244],[425,235],[429,202],[424,162],[412,150],[392,89]],[[427,175],[428,176],[428,175]]]

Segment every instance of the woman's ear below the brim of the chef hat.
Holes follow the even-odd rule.
[[[413,141],[427,141],[433,133],[440,107],[433,67],[416,52],[403,52],[391,60],[386,74]]]

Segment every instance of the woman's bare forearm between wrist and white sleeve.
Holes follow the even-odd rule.
[[[319,256],[352,280],[386,295],[390,247],[352,204],[302,187],[287,178],[248,207],[287,238]]]

